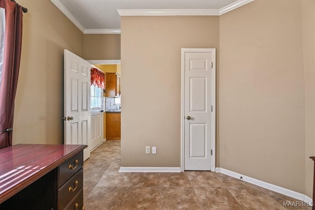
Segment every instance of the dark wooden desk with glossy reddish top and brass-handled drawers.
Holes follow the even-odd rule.
[[[0,209],[84,209],[86,147],[20,144],[0,149]]]

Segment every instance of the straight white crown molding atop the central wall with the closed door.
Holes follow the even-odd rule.
[[[120,16],[208,16],[219,15],[219,9],[117,9]]]

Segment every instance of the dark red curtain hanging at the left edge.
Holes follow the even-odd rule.
[[[0,148],[4,148],[12,145],[14,99],[21,59],[22,7],[10,0],[0,0],[0,7],[5,10],[3,67],[0,69]]]

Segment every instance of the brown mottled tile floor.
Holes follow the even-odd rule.
[[[84,162],[85,210],[311,210],[293,198],[220,173],[119,173],[120,141]]]

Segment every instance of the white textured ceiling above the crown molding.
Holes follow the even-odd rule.
[[[53,1],[53,0],[52,0]],[[85,29],[120,29],[117,9],[220,9],[237,0],[54,0]]]

